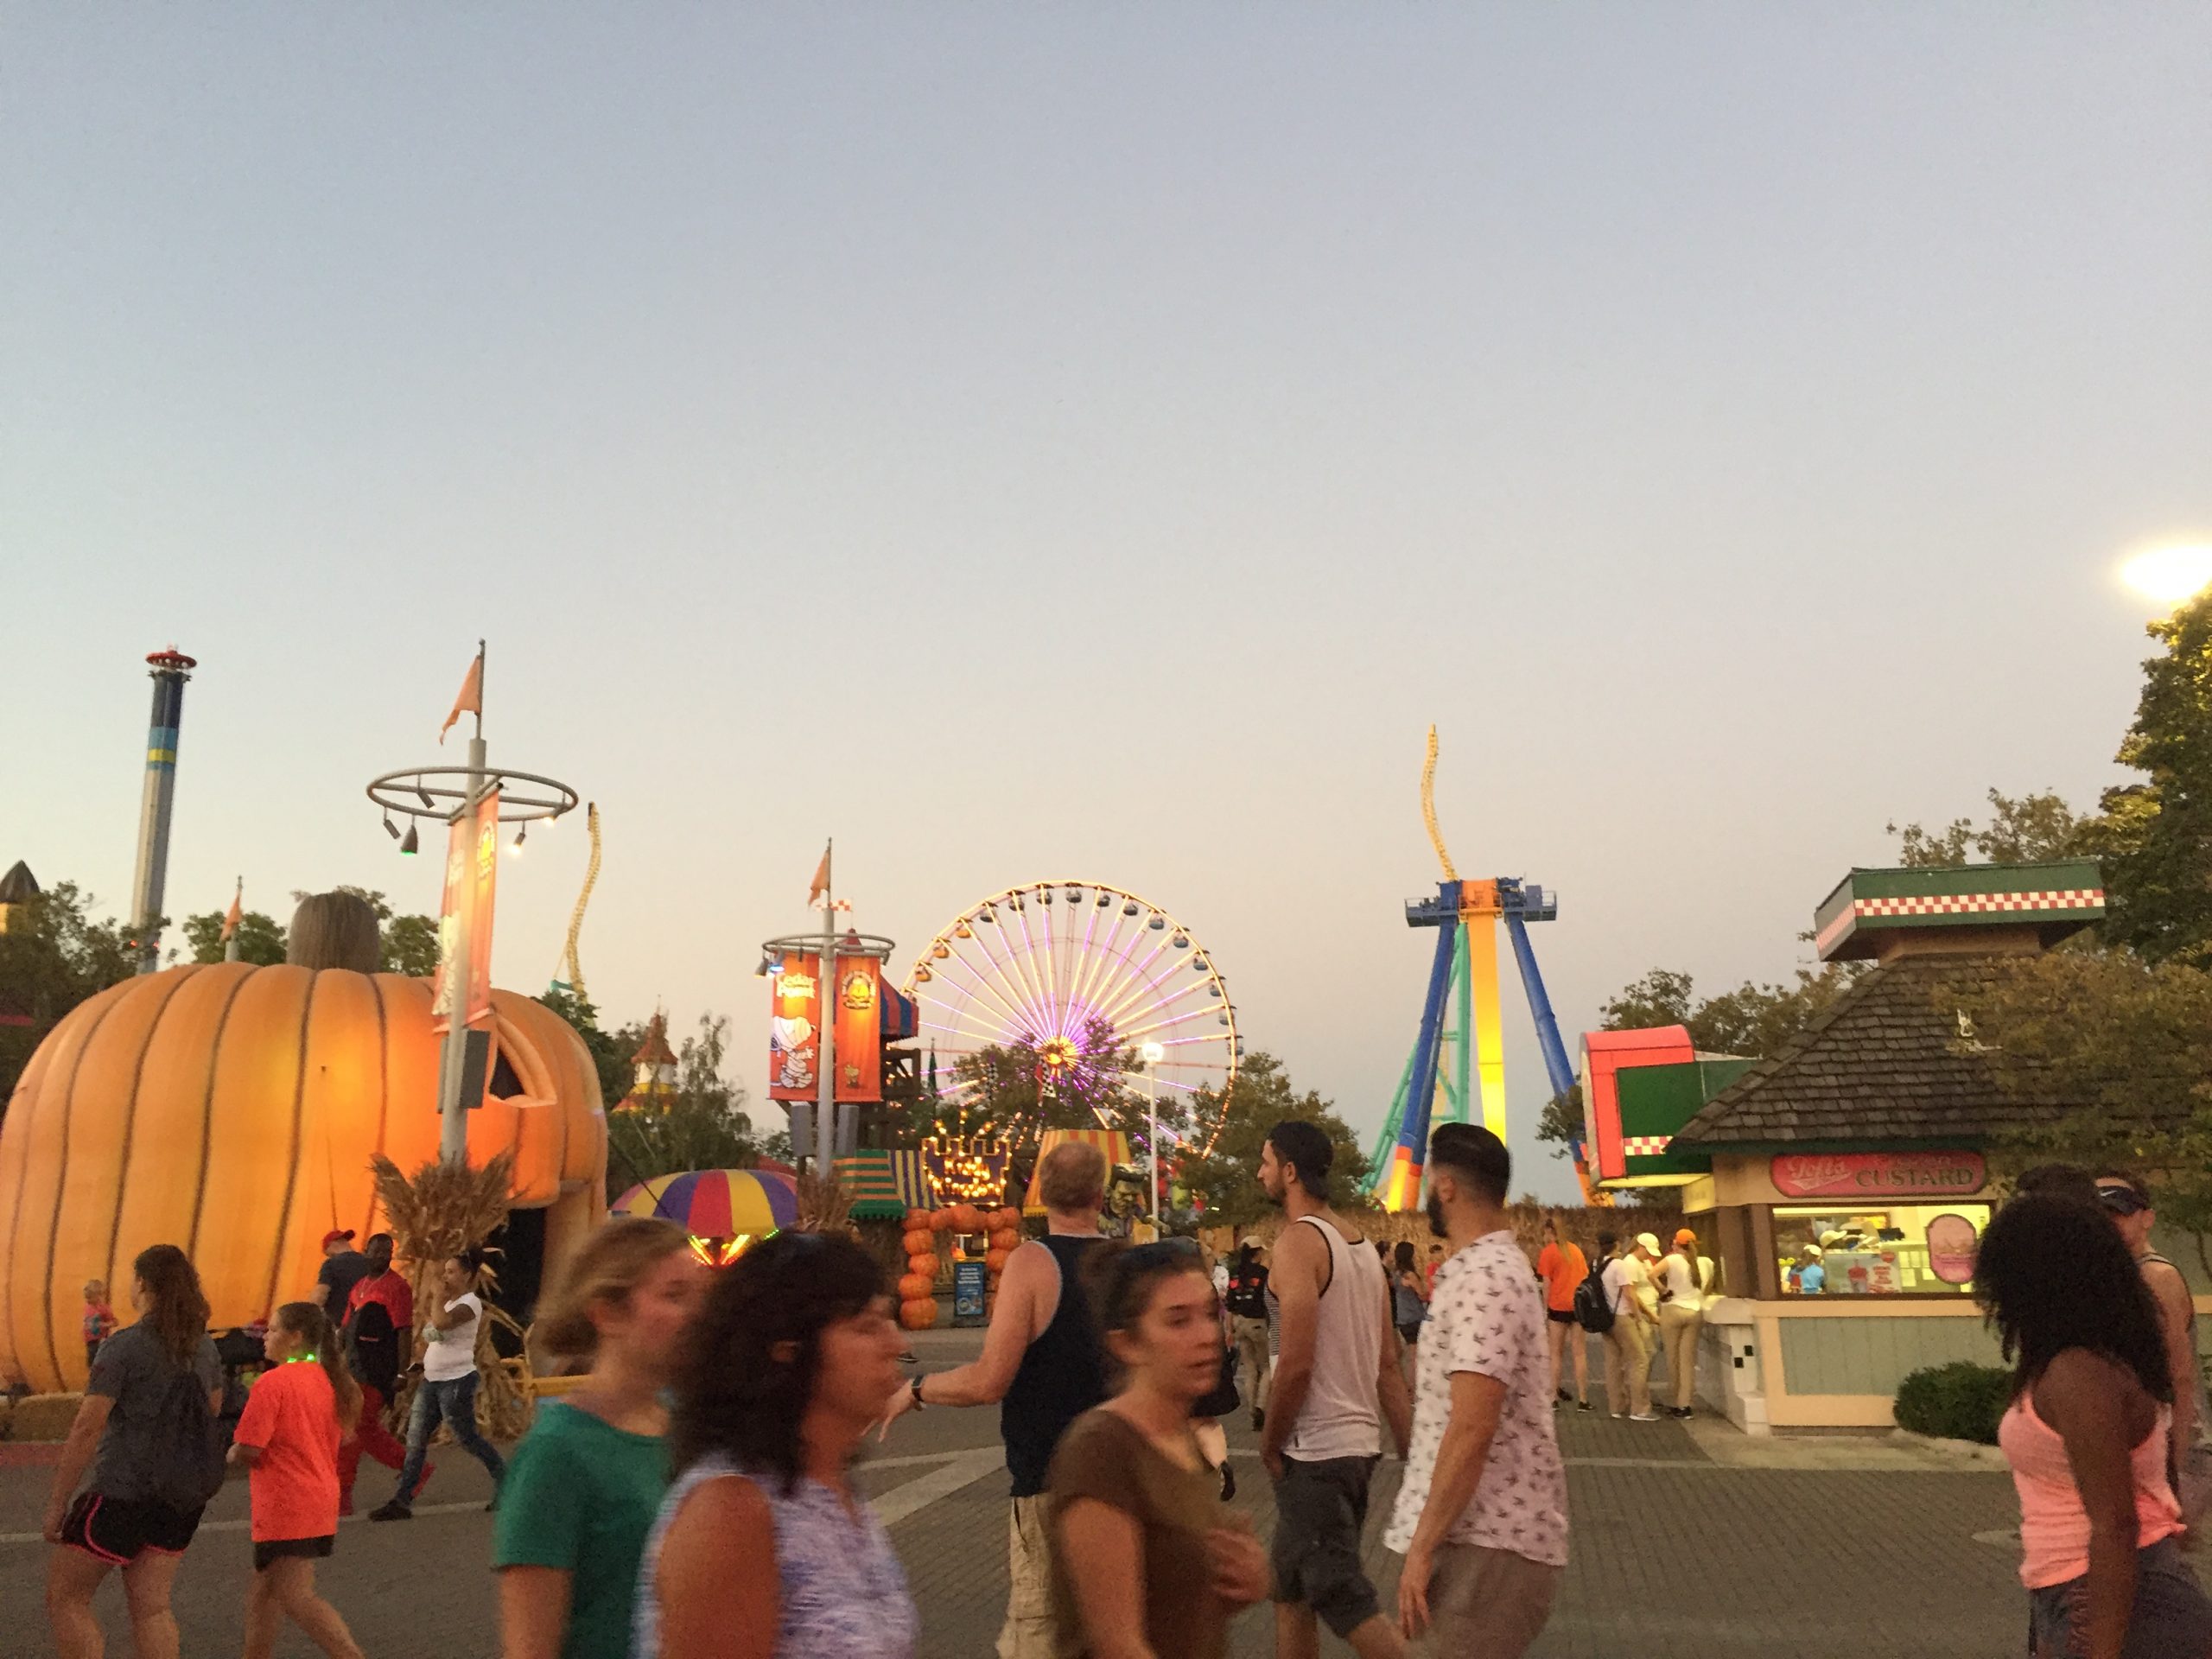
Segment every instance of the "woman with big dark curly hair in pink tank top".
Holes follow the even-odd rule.
[[[1997,1444],[2020,1491],[2028,1652],[2212,1659],[2212,1599],[2166,1480],[2166,1343],[2119,1232],[2077,1199],[2022,1194],[1982,1234],[1975,1296],[2017,1367]]]

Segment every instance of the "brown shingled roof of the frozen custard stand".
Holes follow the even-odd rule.
[[[2048,1124],[2075,1104],[2006,1086],[1960,1031],[1960,1009],[2004,958],[1907,956],[1869,969],[1834,1006],[1714,1095],[1674,1135],[1701,1152],[1792,1141],[1958,1141]]]

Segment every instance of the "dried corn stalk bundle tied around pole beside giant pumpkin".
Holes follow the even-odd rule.
[[[416,1305],[436,1307],[438,1263],[469,1250],[484,1250],[491,1234],[507,1225],[515,1161],[509,1152],[498,1152],[480,1168],[431,1161],[414,1175],[400,1175],[392,1159],[378,1155],[369,1159],[369,1166],[376,1170],[376,1201],[392,1230],[394,1256],[409,1267],[407,1281],[414,1285]],[[489,1303],[489,1292],[498,1285],[498,1270],[487,1261],[480,1285],[487,1292],[484,1318],[476,1323],[476,1369],[482,1378],[476,1394],[476,1422],[495,1440],[513,1440],[531,1422],[533,1391],[529,1356],[524,1354],[518,1376],[507,1369],[507,1360],[491,1345],[493,1325],[522,1336],[522,1327],[507,1310]],[[420,1360],[427,1347],[422,1321],[416,1321],[416,1332],[411,1358]],[[400,1385],[396,1400],[400,1422],[414,1407],[414,1389],[416,1378]]]

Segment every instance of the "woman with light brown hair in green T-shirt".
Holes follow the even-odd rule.
[[[591,1376],[540,1407],[507,1464],[491,1542],[500,1659],[628,1655],[637,1559],[668,1491],[661,1389],[703,1292],[684,1228],[619,1217],[538,1318],[538,1345],[591,1358]]]

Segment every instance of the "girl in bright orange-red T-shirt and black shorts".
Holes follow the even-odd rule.
[[[338,1533],[338,1440],[361,1413],[361,1385],[314,1303],[285,1303],[261,1343],[270,1360],[246,1396],[230,1455],[252,1471],[254,1582],[246,1659],[268,1659],[285,1617],[332,1659],[361,1659],[345,1619],[314,1593],[314,1562]]]

